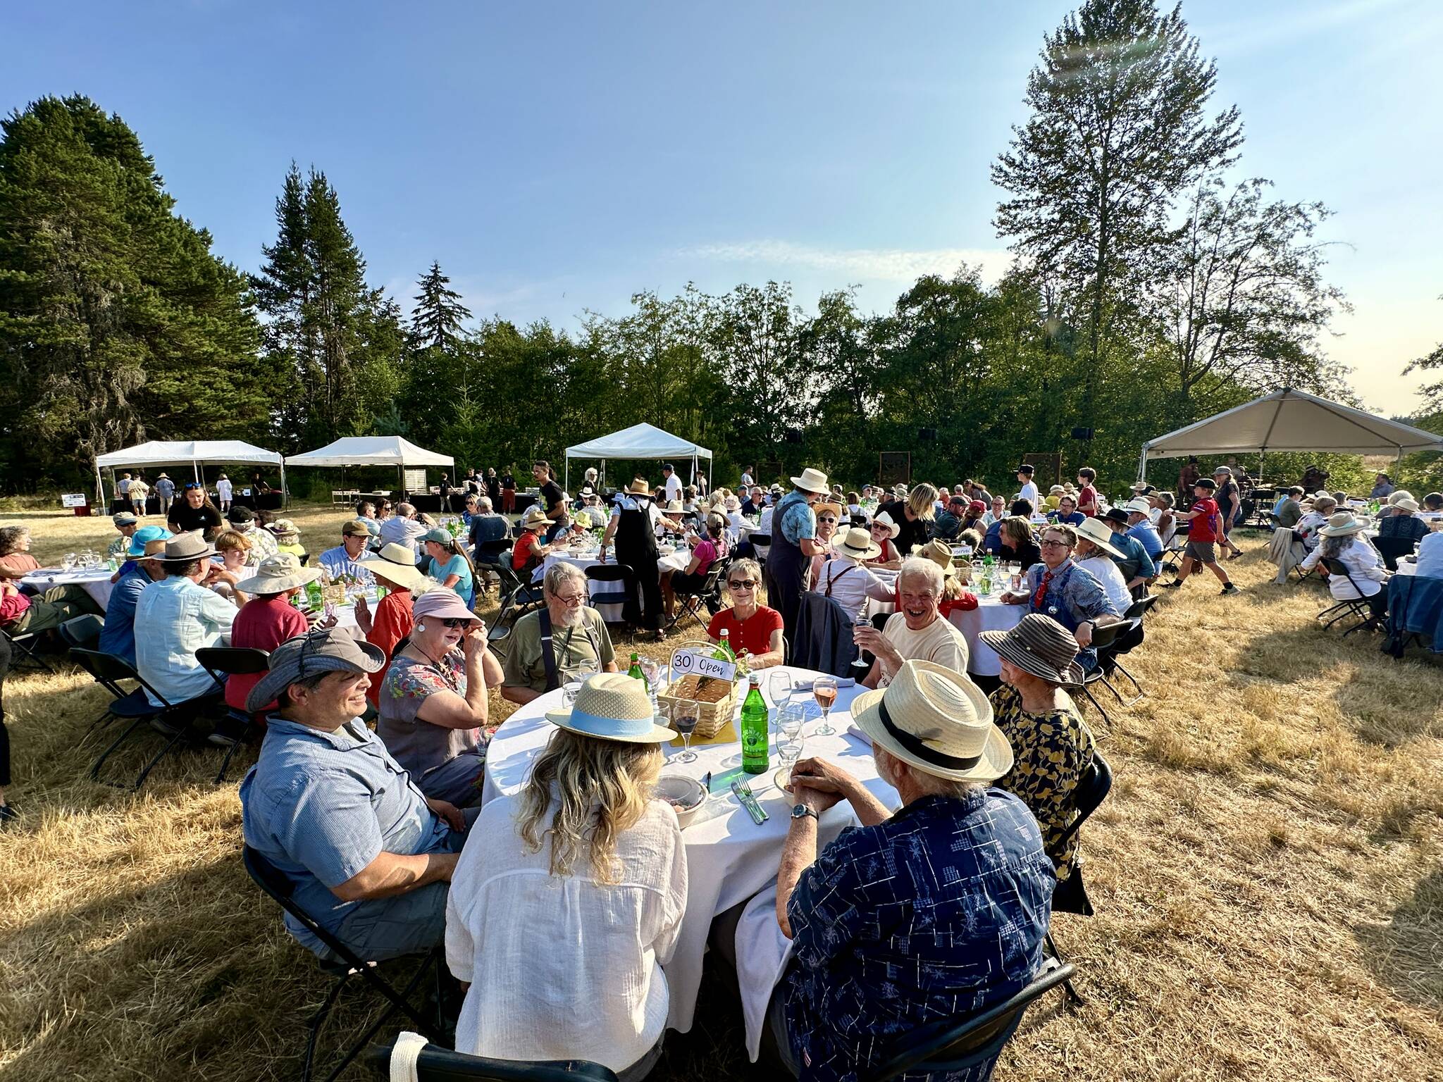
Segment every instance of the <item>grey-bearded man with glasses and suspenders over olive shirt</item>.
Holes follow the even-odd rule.
[[[545,607],[527,613],[511,629],[501,682],[501,697],[511,703],[530,703],[592,672],[618,671],[606,623],[586,603],[582,568],[553,564],[541,593]]]

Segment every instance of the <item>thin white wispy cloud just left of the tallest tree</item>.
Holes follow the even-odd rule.
[[[765,264],[776,267],[805,267],[830,271],[851,278],[883,281],[912,281],[922,274],[951,274],[961,264],[975,267],[988,281],[996,281],[1012,263],[1012,254],[1000,248],[817,248],[791,241],[736,241],[729,244],[698,244],[681,248],[678,258],[714,260],[719,263]]]

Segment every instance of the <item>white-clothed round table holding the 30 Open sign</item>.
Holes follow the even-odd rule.
[[[775,669],[762,672],[762,692],[766,692],[768,677]],[[810,681],[815,675],[808,669],[781,667],[794,681]],[[835,762],[859,778],[872,793],[889,808],[898,808],[896,791],[877,778],[876,763],[867,743],[847,733],[851,726],[851,700],[866,688],[838,688],[837,703],[831,710],[831,736],[815,736],[812,730],[821,723],[821,711],[805,690],[797,690],[792,701],[811,704],[811,717],[802,730],[805,746],[802,757],[817,756]],[[740,695],[737,713],[740,713]],[[771,700],[768,700],[771,701]],[[482,804],[498,796],[511,796],[525,783],[531,762],[550,740],[556,726],[545,720],[547,710],[561,708],[561,691],[550,691],[517,710],[496,730],[486,749],[486,775],[482,788]],[[772,711],[775,723],[775,711]],[[775,747],[775,744],[773,744]],[[681,746],[664,746],[667,756],[675,756]],[[722,775],[734,769],[730,759],[739,756],[736,742],[722,744],[696,743],[697,759],[691,763],[668,763],[665,773],[684,773],[701,779],[710,770]],[[772,755],[772,766],[766,773],[750,778],[752,792],[768,814],[762,824],[752,818],[737,804],[729,788],[713,793],[683,831],[687,844],[687,913],[681,920],[681,933],[671,962],[667,964],[667,984],[671,988],[671,1014],[668,1026],[685,1033],[691,1029],[693,1011],[697,1004],[697,988],[701,985],[701,958],[707,949],[707,933],[711,920],[719,915],[756,894],[776,879],[776,866],[782,854],[782,843],[791,822],[791,799],[776,788],[772,775],[781,763]],[[843,802],[821,817],[818,827],[818,850],[833,841],[843,828],[854,825],[850,806]]]

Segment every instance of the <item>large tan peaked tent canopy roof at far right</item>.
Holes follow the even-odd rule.
[[[1143,444],[1143,462],[1182,454],[1408,454],[1420,450],[1443,450],[1443,437],[1284,388],[1149,440]]]

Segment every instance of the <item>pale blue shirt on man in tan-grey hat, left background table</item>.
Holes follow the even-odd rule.
[[[150,583],[136,602],[136,671],[172,703],[216,691],[195,652],[222,645],[235,612],[231,602],[190,579]],[[150,703],[160,705],[154,698]]]

